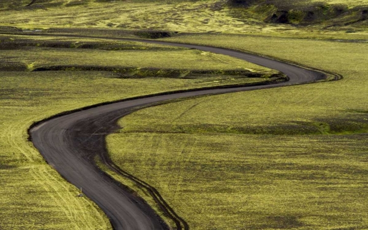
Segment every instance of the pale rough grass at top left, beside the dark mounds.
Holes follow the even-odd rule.
[[[120,29],[156,28],[203,32],[249,27],[229,16],[228,10],[211,10],[215,3],[214,0],[179,1],[174,4],[167,1],[91,1],[87,3],[88,7],[60,5],[48,7],[48,10],[6,10],[0,13],[0,23],[28,27],[118,26]]]

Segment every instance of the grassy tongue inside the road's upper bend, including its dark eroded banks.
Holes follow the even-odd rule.
[[[194,49],[92,39],[41,39],[0,37],[0,69],[110,71],[117,78],[187,78],[210,85],[287,80],[277,71]]]

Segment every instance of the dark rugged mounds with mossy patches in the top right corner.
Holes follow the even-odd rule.
[[[350,1],[229,0],[228,5],[263,17],[266,23],[367,27],[368,3]],[[241,14],[238,16],[241,17]]]

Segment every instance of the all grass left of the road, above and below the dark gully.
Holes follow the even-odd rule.
[[[229,69],[239,66],[267,72],[265,68],[248,65],[246,62],[194,50],[109,42],[108,47],[112,45],[122,47],[113,51],[69,47],[76,41],[67,39],[60,41],[54,38],[46,40],[27,38],[26,45],[22,41],[25,42],[18,37],[1,36],[0,42],[1,230],[111,229],[105,214],[88,198],[76,197],[78,189],[62,179],[44,161],[31,142],[27,141],[27,128],[33,122],[104,101],[227,84],[230,81],[225,79],[229,76],[224,74],[168,78],[160,77],[156,73],[153,77],[128,78],[121,77],[120,73],[113,71],[30,70],[55,64],[80,66],[124,64],[127,67],[158,69],[178,67],[201,69],[210,66]],[[79,42],[91,43],[83,40]],[[100,42],[98,47],[107,47],[106,41],[98,42]],[[55,43],[56,48],[52,47],[56,46]],[[66,44],[67,48],[61,48],[60,44]],[[142,51],[143,47],[146,48]],[[187,59],[182,58],[182,55]],[[145,63],[142,60],[150,62]],[[3,71],[5,68],[12,71]],[[250,79],[250,82],[252,81],[257,79]]]

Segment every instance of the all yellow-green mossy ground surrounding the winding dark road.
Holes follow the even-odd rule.
[[[287,79],[225,55],[108,38],[225,47],[341,74],[144,108],[106,145],[190,230],[368,230],[367,0],[0,0],[0,230],[113,229],[29,141],[34,122]],[[175,229],[146,190],[100,160]]]

